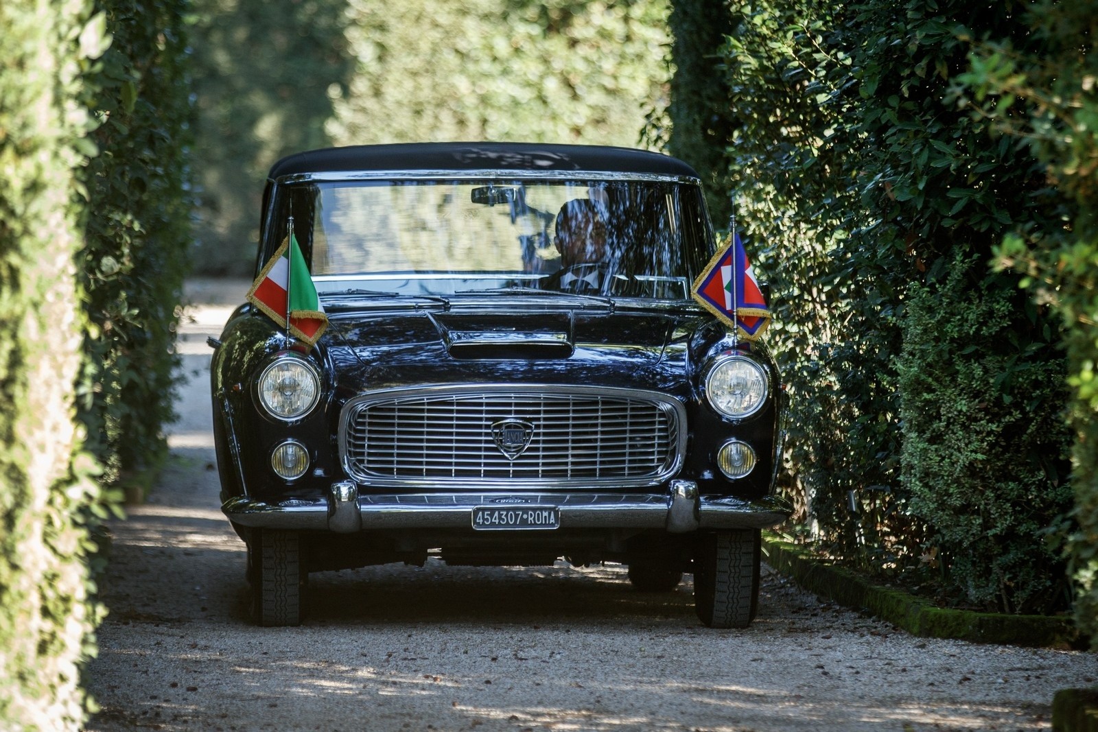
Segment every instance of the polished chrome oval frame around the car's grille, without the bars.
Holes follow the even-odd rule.
[[[645,402],[659,409],[662,409],[669,419],[669,430],[672,432],[670,435],[671,452],[673,454],[669,455],[668,462],[661,468],[657,469],[658,472],[650,473],[648,475],[641,475],[638,477],[623,477],[623,478],[597,478],[597,477],[547,477],[547,478],[524,478],[524,477],[424,477],[424,478],[408,478],[408,477],[383,477],[378,475],[369,475],[359,471],[348,457],[348,430],[349,423],[352,413],[369,406],[372,403],[378,402],[393,402],[403,398],[417,398],[422,396],[486,396],[486,397],[506,397],[509,395],[518,396],[574,396],[574,395],[591,395],[591,396],[614,396],[623,399],[632,399],[638,402]],[[514,415],[503,415],[504,417],[513,417]],[[450,433],[453,431],[453,427],[450,423],[439,425],[439,429],[449,430]],[[551,429],[546,427],[544,429]],[[672,475],[676,474],[681,469],[686,454],[686,407],[673,397],[670,397],[660,392],[649,392],[635,388],[623,388],[613,386],[585,386],[575,384],[434,384],[428,386],[408,386],[408,387],[397,387],[397,388],[386,388],[379,390],[376,392],[367,392],[352,399],[349,399],[339,413],[339,459],[343,464],[344,471],[352,480],[363,486],[374,486],[374,487],[406,487],[406,488],[422,488],[438,489],[440,486],[475,486],[475,487],[495,487],[501,491],[514,489],[516,485],[522,485],[524,487],[540,487],[540,488],[574,488],[576,486],[583,487],[648,487],[660,485]],[[559,460],[559,458],[558,458]]]

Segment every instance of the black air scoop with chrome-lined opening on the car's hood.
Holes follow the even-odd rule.
[[[450,356],[463,361],[553,360],[572,356],[572,318],[453,316],[435,318]]]

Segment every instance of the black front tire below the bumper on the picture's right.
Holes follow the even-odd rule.
[[[698,537],[694,609],[709,628],[747,628],[759,609],[762,532],[712,531]]]

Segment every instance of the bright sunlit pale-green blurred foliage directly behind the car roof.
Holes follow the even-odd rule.
[[[349,0],[348,16],[358,66],[328,125],[343,145],[631,146],[645,103],[665,83],[666,7],[658,0]]]

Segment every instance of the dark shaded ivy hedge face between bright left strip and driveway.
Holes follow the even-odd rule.
[[[189,0],[100,0],[113,38],[90,75],[100,125],[83,169],[79,417],[104,482],[147,483],[173,418],[176,325],[190,268]]]

